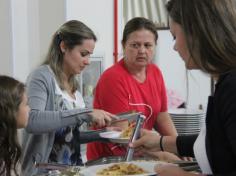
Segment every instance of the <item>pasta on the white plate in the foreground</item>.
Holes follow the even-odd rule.
[[[113,176],[122,176],[122,175],[136,175],[136,174],[145,174],[143,168],[132,164],[132,163],[117,163],[104,168],[96,173],[97,176],[113,175]]]

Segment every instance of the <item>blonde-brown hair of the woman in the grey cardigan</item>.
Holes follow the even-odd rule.
[[[62,73],[63,53],[60,43],[63,41],[66,48],[72,50],[76,45],[81,45],[86,39],[97,40],[93,31],[84,23],[77,20],[64,23],[52,37],[52,42],[43,64],[48,64],[51,67],[62,90],[65,89],[65,86]],[[72,92],[78,89],[79,84],[76,75],[69,78],[69,84],[72,87]]]

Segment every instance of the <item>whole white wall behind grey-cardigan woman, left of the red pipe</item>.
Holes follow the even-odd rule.
[[[104,68],[114,63],[113,0],[1,0],[0,3],[0,37],[4,41],[0,42],[1,74],[25,81],[29,72],[44,60],[53,33],[70,19],[81,20],[95,31],[98,42],[94,53],[105,55]],[[121,7],[122,1],[118,3]],[[119,31],[121,38],[122,30]]]

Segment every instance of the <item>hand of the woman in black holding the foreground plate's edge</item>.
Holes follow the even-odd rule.
[[[156,165],[154,170],[158,176],[196,176],[196,174],[186,172],[180,167],[171,164]]]

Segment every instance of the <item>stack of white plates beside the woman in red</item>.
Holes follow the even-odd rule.
[[[205,123],[206,113],[203,110],[171,109],[169,114],[179,135],[198,134]]]

